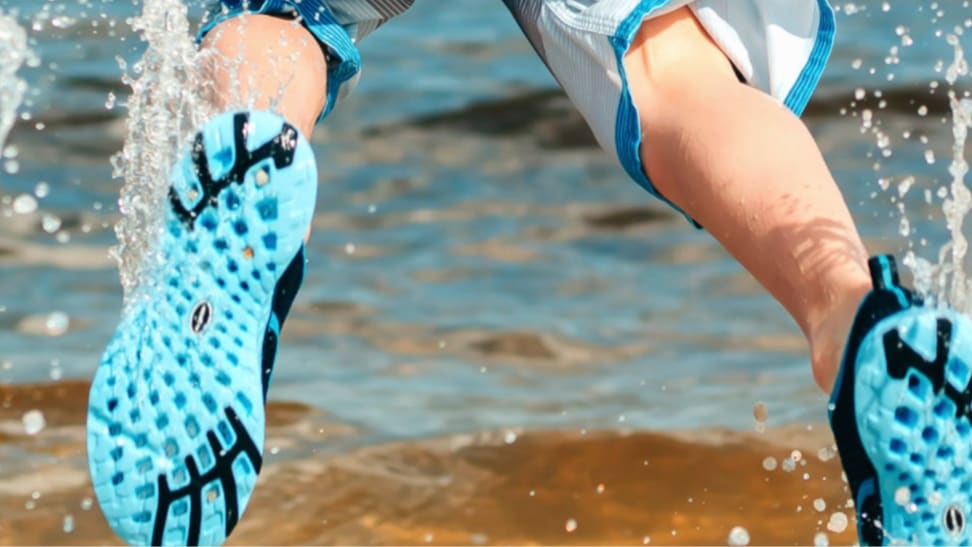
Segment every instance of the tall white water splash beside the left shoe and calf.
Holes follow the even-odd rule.
[[[163,229],[162,203],[169,175],[192,135],[215,112],[205,77],[205,53],[190,32],[187,6],[182,0],[149,0],[130,20],[147,48],[122,81],[131,87],[125,146],[112,158],[113,176],[124,178],[115,226],[125,303],[135,295],[142,272],[165,257],[154,254]]]

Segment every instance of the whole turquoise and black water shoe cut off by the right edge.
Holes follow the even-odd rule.
[[[968,545],[972,322],[869,267],[830,413],[861,544]]]

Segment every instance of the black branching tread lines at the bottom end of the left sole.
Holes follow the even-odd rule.
[[[197,545],[199,543],[199,531],[202,522],[202,489],[205,485],[209,484],[213,480],[219,479],[220,484],[223,485],[223,499],[226,500],[226,512],[227,515],[232,511],[233,517],[227,516],[226,519],[226,535],[229,536],[233,527],[239,518],[239,510],[236,506],[236,484],[233,483],[232,488],[227,488],[227,482],[233,482],[235,477],[233,476],[233,461],[236,460],[236,456],[240,453],[246,454],[247,458],[250,460],[250,464],[253,465],[253,470],[255,473],[259,473],[261,467],[263,466],[263,457],[260,455],[260,451],[253,442],[253,438],[250,437],[249,432],[243,427],[240,422],[239,415],[233,410],[232,407],[225,407],[223,412],[226,414],[226,419],[233,428],[233,432],[236,435],[236,442],[233,443],[228,449],[223,449],[222,445],[219,443],[218,437],[216,437],[215,432],[210,430],[206,433],[207,439],[209,439],[210,446],[213,448],[213,458],[216,462],[213,467],[200,474],[199,468],[196,464],[195,459],[192,454],[186,456],[186,468],[189,470],[189,484],[179,488],[177,490],[171,490],[169,488],[168,480],[166,479],[165,473],[159,475],[159,504],[155,511],[155,526],[152,531],[152,545],[162,544],[162,535],[165,532],[165,519],[168,517],[169,507],[177,500],[189,496],[191,503],[191,513],[189,515],[189,531],[186,537],[187,545]],[[212,436],[210,436],[212,435]],[[215,444],[214,444],[215,443]],[[230,502],[230,490],[232,490],[232,502]]]

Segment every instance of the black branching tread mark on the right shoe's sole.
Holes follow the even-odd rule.
[[[952,322],[939,319],[936,329],[935,358],[926,360],[911,346],[901,339],[897,329],[884,334],[884,356],[888,362],[888,374],[892,378],[903,380],[909,369],[922,374],[932,384],[932,389],[938,393],[945,390],[945,396],[955,403],[955,417],[967,416],[972,419],[972,386],[966,386],[959,391],[955,386],[945,381],[945,364],[948,362],[948,350],[952,344]]]

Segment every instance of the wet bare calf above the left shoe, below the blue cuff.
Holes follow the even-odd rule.
[[[210,59],[218,107],[273,109],[310,137],[327,101],[327,63],[314,36],[294,20],[233,17],[211,30]]]

